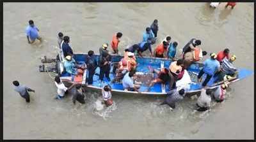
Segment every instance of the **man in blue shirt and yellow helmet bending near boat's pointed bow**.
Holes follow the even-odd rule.
[[[220,62],[216,60],[217,55],[215,53],[211,53],[211,59],[207,59],[204,61],[204,67],[198,73],[197,78],[200,79],[204,73],[207,75],[202,86],[205,87],[207,83],[211,80],[212,76],[220,71]]]

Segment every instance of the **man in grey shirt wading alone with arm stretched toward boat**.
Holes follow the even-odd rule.
[[[30,97],[28,92],[35,92],[35,90],[29,89],[25,85],[20,85],[20,83],[17,80],[13,81],[12,83],[14,85],[14,90],[19,92],[20,96],[26,99],[26,102],[29,103]]]

